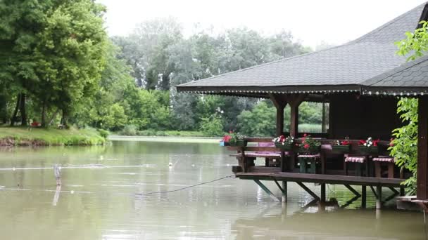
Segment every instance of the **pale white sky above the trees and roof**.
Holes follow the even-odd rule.
[[[107,6],[111,36],[130,34],[145,20],[172,16],[184,34],[195,25],[216,31],[248,27],[264,34],[291,31],[315,48],[325,41],[344,44],[424,3],[424,0],[98,0]],[[426,0],[425,0],[426,1]]]

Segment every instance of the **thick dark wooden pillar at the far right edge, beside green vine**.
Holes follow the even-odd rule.
[[[417,188],[418,200],[428,199],[428,96],[419,98],[417,107]]]

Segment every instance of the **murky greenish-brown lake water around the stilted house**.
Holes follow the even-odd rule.
[[[209,143],[113,141],[105,147],[1,149],[0,239],[425,239],[422,213],[304,207],[272,201],[254,182],[225,178],[236,160]],[[170,163],[172,166],[169,166]],[[261,161],[260,161],[261,163]],[[60,164],[57,189],[53,164]],[[266,185],[280,196],[272,182]],[[308,184],[319,192],[320,187]],[[146,194],[150,193],[152,194]],[[161,193],[153,193],[161,192]],[[385,189],[383,195],[390,194]],[[327,186],[343,206],[353,195]],[[394,206],[394,202],[387,205]]]

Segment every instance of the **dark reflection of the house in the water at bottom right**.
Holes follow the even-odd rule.
[[[288,207],[290,208],[290,207]],[[290,209],[289,209],[290,211]],[[318,213],[265,213],[252,219],[242,218],[232,225],[238,240],[247,239],[424,239],[423,217],[405,212],[403,221],[389,216],[392,211],[382,211],[380,217],[372,211],[322,211]],[[322,217],[320,216],[322,215]],[[419,224],[415,224],[419,223]],[[403,229],[403,231],[397,231]]]

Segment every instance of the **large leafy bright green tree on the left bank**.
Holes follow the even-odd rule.
[[[28,95],[46,125],[50,108],[61,109],[65,122],[95,93],[104,64],[103,11],[91,0],[0,2],[0,45],[9,49],[0,72],[18,89],[22,124]]]

